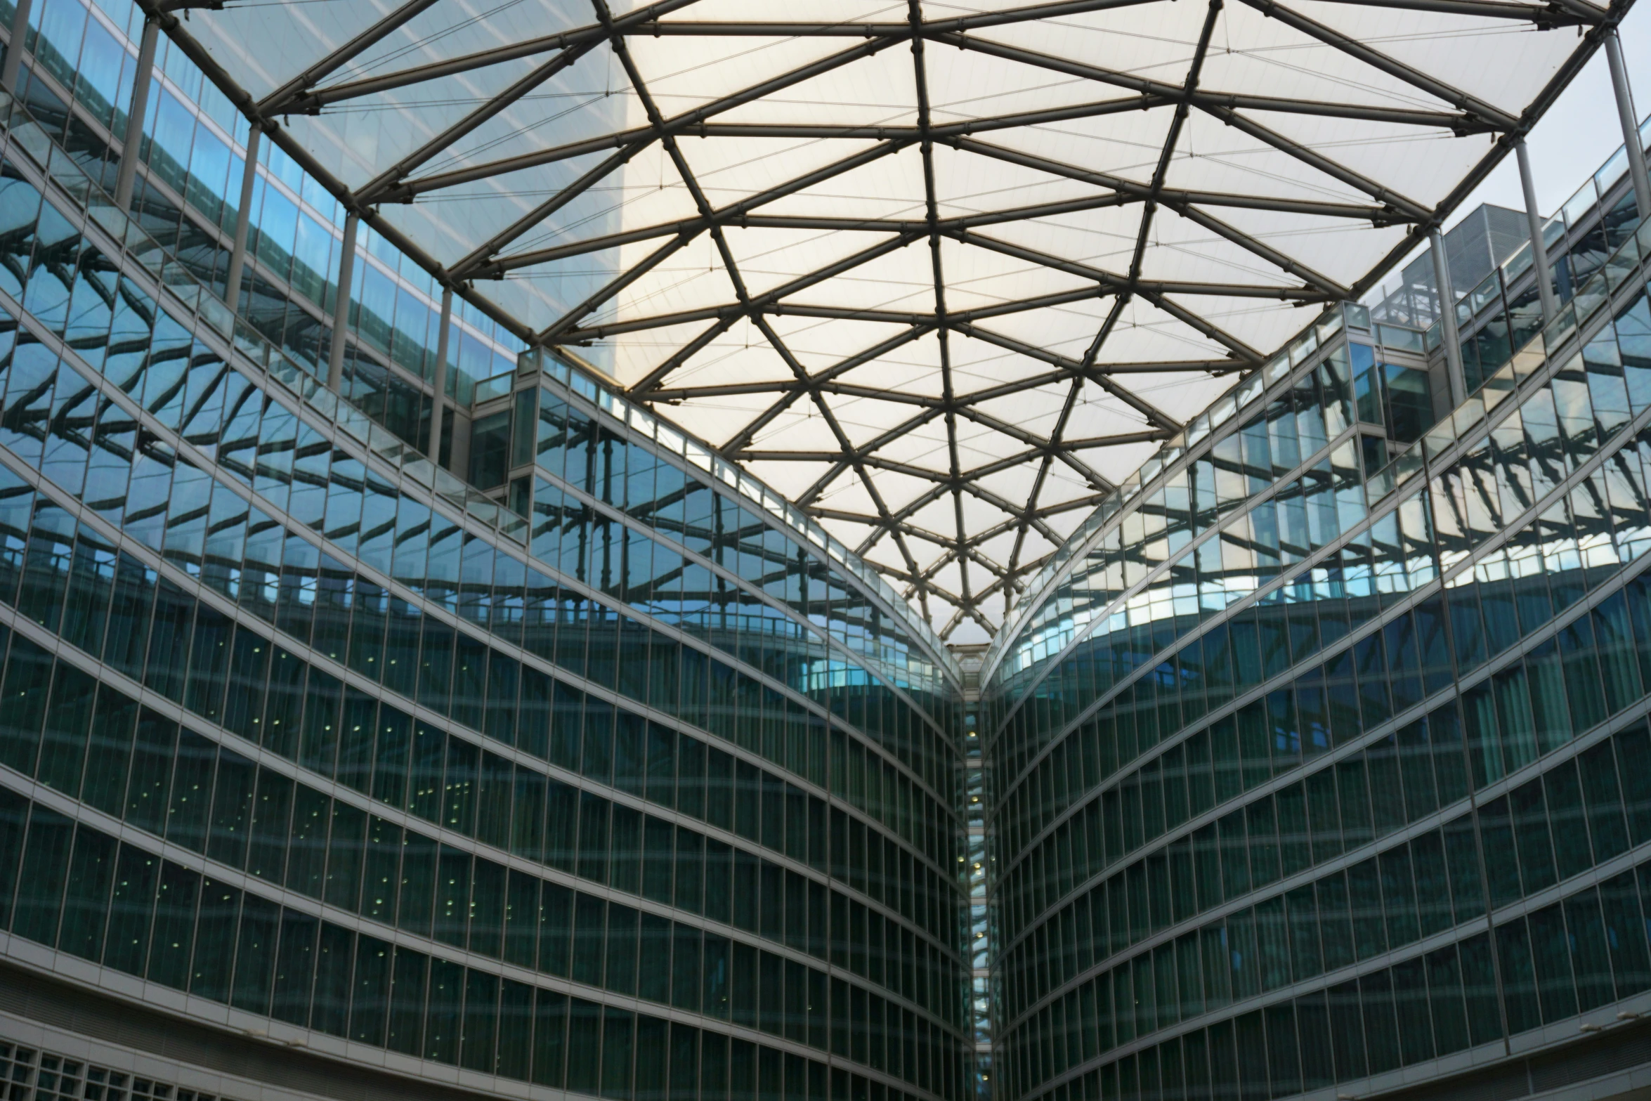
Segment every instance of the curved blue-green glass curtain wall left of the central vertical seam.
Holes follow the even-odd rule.
[[[614,1098],[967,1089],[956,695],[852,581],[555,378],[494,528],[7,139],[8,956]]]

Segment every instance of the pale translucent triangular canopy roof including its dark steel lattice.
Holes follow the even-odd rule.
[[[966,640],[1159,441],[1436,226],[1623,10],[228,0],[163,21],[446,284],[669,406]]]

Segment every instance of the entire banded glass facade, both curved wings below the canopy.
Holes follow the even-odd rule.
[[[220,1068],[371,1068],[365,1101],[1365,1096],[1651,1015],[1625,154],[1547,224],[1545,325],[1512,213],[1474,223],[1466,404],[1413,264],[949,652],[589,363],[444,319],[370,224],[340,279],[340,203],[173,40],[116,206],[142,12],[28,25],[0,1009],[26,976]],[[53,1035],[0,1035],[12,1101],[234,1096]]]

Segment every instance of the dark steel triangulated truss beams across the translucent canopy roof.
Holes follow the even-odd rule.
[[[231,91],[231,97],[254,122],[261,122],[274,140],[322,178],[348,208],[362,213],[391,243],[424,262],[444,286],[454,287],[472,302],[484,305],[495,317],[500,315],[499,307],[475,295],[474,284],[477,281],[532,276],[571,258],[599,253],[619,256],[621,248],[644,246],[634,262],[627,261],[619,269],[606,269],[606,282],[583,300],[571,304],[548,325],[528,332],[520,322],[512,320],[512,330],[545,345],[589,345],[636,333],[641,333],[642,340],[665,340],[669,342],[667,348],[655,360],[650,360],[647,370],[632,383],[631,396],[634,399],[655,406],[718,398],[756,401],[756,406],[741,406],[748,409],[740,414],[743,424],[733,426],[721,437],[721,451],[741,462],[819,467],[819,477],[796,495],[796,503],[826,522],[855,525],[855,530],[865,532],[859,545],[860,553],[870,555],[882,550],[883,556],[888,558],[892,548],[892,556],[898,560],[898,565],[880,568],[905,586],[908,596],[923,606],[925,614],[936,622],[936,627],[941,627],[943,636],[956,629],[963,619],[974,619],[987,632],[992,632],[996,627],[982,612],[986,601],[989,598],[1009,601],[1020,589],[1024,578],[1042,565],[1037,553],[1029,553],[1029,538],[1037,536],[1032,540],[1034,546],[1045,541],[1058,545],[1060,533],[1052,527],[1052,517],[1088,508],[1113,489],[1111,482],[1093,465],[1093,459],[1085,457],[1086,454],[1093,456],[1095,449],[1167,439],[1180,429],[1174,416],[1138,393],[1134,385],[1138,380],[1152,383],[1174,376],[1228,375],[1260,363],[1270,348],[1250,347],[1215,320],[1230,315],[1233,300],[1311,305],[1357,295],[1367,289],[1392,261],[1425,238],[1440,218],[1471,190],[1471,183],[1483,178],[1511,149],[1512,140],[1529,129],[1534,117],[1587,59],[1603,30],[1615,25],[1623,12],[1621,5],[1600,8],[1590,0],[1334,0],[1341,5],[1408,13],[1478,17],[1507,26],[1535,30],[1582,28],[1585,31],[1583,46],[1549,81],[1530,109],[1516,117],[1458,89],[1441,76],[1425,73],[1276,0],[1204,0],[1199,5],[1199,35],[1194,43],[1189,43],[1179,83],[1162,79],[1167,73],[1161,66],[1142,69],[1154,73],[1154,76],[1114,71],[1075,58],[999,41],[981,33],[1017,23],[1071,18],[1113,8],[1159,3],[1161,0],[1057,0],[989,13],[948,15],[946,18],[925,18],[920,0],[908,0],[905,18],[887,18],[885,15],[882,21],[873,23],[697,21],[682,17],[684,10],[693,7],[697,0],[657,0],[641,3],[624,13],[613,13],[608,0],[589,0],[591,17],[580,26],[439,61],[362,74],[352,63],[401,31],[436,3],[436,0],[406,0],[286,84],[256,101],[234,87],[223,68],[190,38],[175,17],[163,13],[180,7],[177,0],[139,2],[152,15],[160,13],[158,18],[167,33],[180,41],[216,83]],[[1317,46],[1334,51],[1354,74],[1354,79],[1342,81],[1349,94],[1385,83],[1384,86],[1403,86],[1410,102],[1422,106],[1405,106],[1405,101],[1397,96],[1372,96],[1380,102],[1357,102],[1357,96],[1352,96],[1352,101],[1319,101],[1212,87],[1204,79],[1204,68],[1223,2],[1253,8],[1260,15],[1276,20],[1278,25],[1288,26],[1303,40],[1311,40]],[[832,45],[826,48],[822,56],[816,56],[806,64],[771,74],[748,87],[720,94],[688,111],[665,114],[631,54],[629,41],[636,36],[812,38]],[[1096,96],[1090,102],[1048,109],[1014,111],[967,120],[936,120],[930,104],[930,51],[941,46],[1012,66],[1038,69],[1042,71],[1038,79],[1060,81],[1068,87],[1073,83],[1095,86]],[[893,48],[910,51],[911,102],[915,104],[915,111],[898,125],[725,120],[725,116],[740,107],[764,99],[776,101],[788,89],[797,89],[807,81]],[[598,51],[604,51],[617,61],[617,68],[629,84],[632,102],[646,119],[642,125],[581,137],[546,149],[518,150],[485,162],[461,158],[457,167],[451,167],[452,154],[466,135],[477,132],[558,73]],[[485,102],[471,106],[395,163],[375,165],[373,177],[353,190],[343,188],[325,173],[317,158],[310,157],[291,134],[276,124],[276,119],[284,116],[320,114],[352,101],[512,61],[527,61],[528,68],[522,69],[522,74],[509,86],[492,94]],[[1176,64],[1180,66],[1182,61]],[[345,74],[342,79],[329,83],[329,78],[340,73]],[[1081,163],[1068,163],[1032,152],[1040,149],[1037,144],[1015,142],[1020,134],[1032,127],[1152,111],[1167,112],[1169,117],[1164,137],[1156,142],[1149,158],[1151,173],[1144,180],[1121,172],[1101,172]],[[1227,193],[1174,187],[1169,182],[1171,167],[1185,152],[1180,150],[1180,145],[1187,120],[1194,112],[1232,127],[1260,147],[1289,158],[1308,175],[1334,182],[1339,185],[1337,190],[1360,198],[1360,201],[1304,198],[1301,190],[1294,195],[1268,195],[1265,190]],[[1481,134],[1489,135],[1493,145],[1456,191],[1446,196],[1438,208],[1431,208],[1327,152],[1301,144],[1275,127],[1263,125],[1256,120],[1256,114],[1273,119],[1331,119],[1349,125],[1413,127],[1441,135]],[[687,137],[840,142],[845,154],[792,178],[766,185],[736,201],[715,205],[679,145]],[[1004,165],[1005,172],[1025,172],[1042,180],[1062,180],[1068,185],[1078,185],[1080,190],[1075,198],[1024,205],[1005,203],[956,215],[944,210],[948,205],[936,185],[936,147],[951,150],[954,155],[996,162]],[[543,243],[540,234],[543,234],[546,220],[568,208],[591,188],[603,185],[604,180],[609,180],[644,152],[659,155],[672,165],[680,178],[682,193],[692,201],[693,213],[690,216],[609,229],[583,239]],[[923,196],[920,203],[913,201],[911,216],[807,215],[794,213],[794,203],[781,201],[900,154],[916,154],[921,158]],[[537,196],[535,205],[522,210],[518,216],[509,220],[485,241],[466,243],[469,251],[447,266],[431,261],[418,249],[416,243],[408,241],[378,213],[380,205],[411,203],[423,196],[452,193],[454,188],[464,185],[497,180],[509,173],[575,158],[583,160],[571,182]],[[434,168],[433,162],[436,162]],[[1047,246],[1029,244],[1032,238],[1015,236],[1015,229],[1034,223],[1050,224],[1038,220],[1108,208],[1139,211],[1139,221],[1133,223],[1129,229],[1133,241],[1119,253],[1118,269],[1103,267],[1095,261],[1062,258],[1047,251]],[[784,213],[771,213],[771,210]],[[1156,233],[1154,220],[1164,210],[1197,226],[1210,239],[1218,239],[1225,243],[1223,246],[1242,251],[1250,269],[1261,274],[1253,282],[1166,281],[1144,276]],[[1263,216],[1311,220],[1313,224],[1398,228],[1403,238],[1393,244],[1382,264],[1347,286],[1291,256],[1288,236],[1258,236],[1255,231],[1240,228],[1230,221],[1242,216],[1233,211],[1250,211],[1251,223],[1248,224],[1255,224],[1253,215],[1260,213]],[[728,233],[735,228],[817,234],[854,233],[863,234],[863,239],[847,254],[822,267],[804,274],[788,274],[781,286],[756,291],[741,274],[735,249],[730,246]],[[1263,239],[1263,236],[1270,239]],[[629,287],[647,279],[650,272],[664,271],[662,266],[667,261],[682,254],[690,243],[702,239],[708,239],[715,256],[713,262],[726,274],[731,294],[723,300],[692,309],[667,309],[650,314],[614,310],[614,304]],[[921,309],[855,307],[807,299],[809,291],[875,266],[878,261],[913,246],[926,246],[928,276],[933,282],[931,300],[923,302]],[[982,259],[986,259],[984,254],[991,254],[991,261],[996,264],[1007,262],[1022,271],[1055,274],[1058,276],[1057,286],[1071,289],[1030,294],[991,305],[953,309],[948,302],[946,266],[948,262],[956,264],[951,258],[958,254],[958,249],[979,254]],[[1128,253],[1128,264],[1123,262],[1124,253]],[[923,295],[930,297],[926,286]],[[1113,340],[1114,328],[1128,315],[1131,304],[1141,304],[1162,324],[1195,333],[1215,350],[1215,355],[1225,352],[1225,357],[1109,363],[1108,343]],[[1205,310],[1202,304],[1212,305]],[[1081,355],[1063,355],[1048,347],[1038,347],[1025,338],[1024,330],[1020,330],[1022,335],[1014,330],[1014,322],[1024,322],[1029,314],[1073,305],[1091,305],[1098,310],[1096,317],[1101,319],[1093,337],[1085,330],[1088,345]],[[804,366],[788,338],[776,328],[776,319],[860,324],[863,328],[882,327],[885,332],[860,352],[839,358],[835,363]],[[750,327],[753,340],[773,353],[778,371],[753,381],[705,385],[679,376],[682,368],[702,361],[702,353],[740,322]],[[954,342],[959,337],[1001,350],[1005,353],[1005,360],[1014,363],[1014,373],[977,388],[967,388],[963,383],[967,376],[954,366]],[[923,393],[883,390],[867,385],[863,373],[850,376],[857,368],[920,342],[928,348],[925,355],[931,355],[933,365],[938,368],[933,388]],[[1029,363],[1035,365],[1035,370],[1029,371]],[[687,375],[687,371],[682,373]],[[1133,418],[1134,424],[1119,426],[1118,431],[1103,436],[1080,436],[1068,431],[1070,426],[1081,424],[1081,419],[1073,421],[1075,411],[1091,388],[1105,395],[1111,408]],[[1058,413],[1052,421],[1040,421],[1038,431],[1010,423],[991,404],[1002,398],[1032,395],[1034,391],[1042,391],[1045,398],[1058,401]],[[857,441],[840,419],[842,406],[852,401],[880,403],[883,409],[906,406],[908,414],[892,426],[880,424],[870,439]],[[817,414],[834,444],[832,447],[822,449],[817,437],[811,439],[809,444],[788,447],[783,439],[776,437],[779,428],[788,423],[784,418],[801,411]],[[961,441],[959,431],[1002,437],[1007,441],[1007,447],[1001,457],[969,465],[963,461],[961,452],[969,451],[971,446]],[[943,459],[939,457],[941,442],[933,439],[936,432],[943,432],[944,437]],[[923,439],[925,447],[933,442],[936,456],[933,464],[913,461],[911,454],[918,439]],[[905,503],[892,503],[885,499],[890,480],[878,479],[878,472],[896,475],[895,480],[901,485],[916,485],[915,495]],[[1015,490],[1015,497],[1010,499],[1004,490],[989,487],[989,479],[994,475],[1012,472],[1030,475],[1027,490]],[[1053,500],[1050,480],[1057,474],[1065,479],[1068,492],[1075,490],[1081,495]],[[829,507],[824,502],[829,490],[850,484],[859,484],[863,490],[859,495],[863,502],[862,507]],[[1019,499],[1020,492],[1027,494],[1025,500]],[[982,502],[989,512],[1001,513],[1002,518],[989,523],[984,530],[971,532],[964,515],[966,499]],[[934,508],[936,505],[949,512],[944,522],[936,522],[936,517],[941,515]],[[923,518],[918,513],[923,513]],[[982,550],[987,543],[997,546],[996,558]],[[938,548],[938,556],[931,553],[934,548]],[[920,550],[923,550],[921,555]],[[923,565],[925,561],[926,565]],[[956,571],[948,574],[949,579],[943,586],[938,578],[949,566],[956,566]],[[948,622],[938,622],[944,609],[933,607],[931,598],[944,601],[951,607]]]

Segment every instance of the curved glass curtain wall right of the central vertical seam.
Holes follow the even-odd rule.
[[[1364,1094],[1651,1009],[1651,228],[1600,224],[1431,429],[1319,325],[1005,650],[1005,1096]]]

